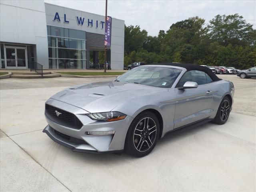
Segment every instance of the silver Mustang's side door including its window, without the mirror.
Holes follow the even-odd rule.
[[[185,82],[197,82],[197,88],[180,90]],[[174,115],[174,129],[192,124],[209,117],[212,112],[213,93],[209,84],[212,79],[202,71],[186,72],[176,85],[176,105]]]

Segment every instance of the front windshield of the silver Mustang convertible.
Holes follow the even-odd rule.
[[[126,72],[115,81],[170,88],[180,72],[181,69],[171,67],[140,66]]]

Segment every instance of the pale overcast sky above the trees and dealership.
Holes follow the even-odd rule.
[[[44,0],[44,2],[105,15],[105,0]],[[126,26],[140,26],[157,36],[173,23],[189,17],[204,18],[238,13],[256,29],[256,0],[108,0],[108,16],[122,19]]]

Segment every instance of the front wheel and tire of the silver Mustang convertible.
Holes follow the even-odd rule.
[[[124,151],[135,157],[144,157],[150,154],[156,146],[159,133],[160,126],[154,113],[145,111],[138,114],[126,134]]]

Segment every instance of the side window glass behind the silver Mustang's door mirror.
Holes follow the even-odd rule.
[[[198,85],[203,85],[212,82],[212,79],[205,72],[191,70],[182,76],[176,87],[182,87],[187,81],[193,81],[197,82]]]

